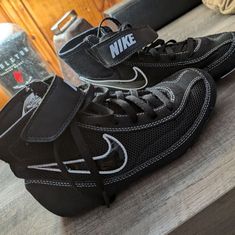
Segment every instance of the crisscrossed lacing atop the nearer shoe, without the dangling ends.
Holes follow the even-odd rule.
[[[147,117],[155,119],[157,117],[155,109],[160,105],[164,105],[170,111],[173,108],[173,103],[167,94],[153,88],[141,91],[111,91],[107,88],[90,85],[86,92],[83,110],[91,102],[104,105],[113,113],[126,114],[133,123],[138,121],[138,113],[143,113]]]

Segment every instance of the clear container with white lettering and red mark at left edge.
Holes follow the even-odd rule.
[[[51,76],[47,64],[18,25],[0,24],[0,110],[33,80]]]

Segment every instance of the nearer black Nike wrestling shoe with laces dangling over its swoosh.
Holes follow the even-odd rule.
[[[0,113],[0,158],[49,211],[78,215],[182,155],[215,99],[213,79],[196,69],[130,92],[33,82]]]

